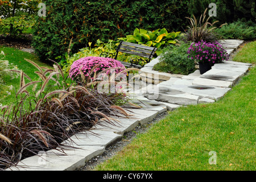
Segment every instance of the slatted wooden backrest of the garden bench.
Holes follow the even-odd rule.
[[[131,55],[137,55],[141,57],[147,57],[148,59],[152,59],[156,49],[157,48],[155,47],[142,46],[139,44],[121,41],[117,47],[117,55],[118,55],[118,52],[124,52],[124,53],[130,53]]]

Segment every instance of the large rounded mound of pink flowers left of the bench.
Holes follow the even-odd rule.
[[[115,73],[125,70],[125,66],[120,61],[109,57],[82,57],[71,65],[69,77],[72,80],[76,80],[80,78],[81,72],[84,73],[85,77],[89,77],[93,73],[105,71],[105,69],[109,68],[115,69]],[[110,70],[106,71],[106,73],[110,73]]]

